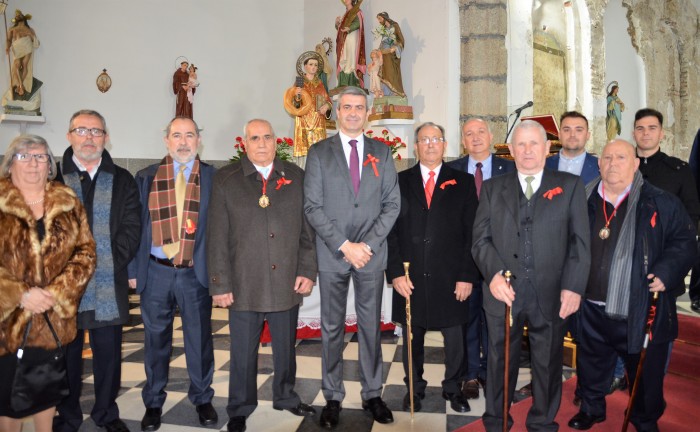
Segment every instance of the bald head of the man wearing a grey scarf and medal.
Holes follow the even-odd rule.
[[[624,140],[610,141],[603,147],[598,160],[603,186],[613,193],[621,193],[632,184],[639,168],[634,146]]]

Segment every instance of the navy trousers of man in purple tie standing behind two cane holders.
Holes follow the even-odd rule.
[[[469,302],[469,321],[464,333],[466,354],[466,375],[464,381],[476,378],[486,379],[486,362],[488,359],[488,331],[486,331],[486,313],[483,308],[482,281],[474,284]]]

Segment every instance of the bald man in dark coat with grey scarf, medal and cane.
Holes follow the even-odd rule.
[[[634,385],[652,293],[655,319],[630,421],[638,431],[658,431],[664,412],[664,366],[678,336],[673,287],[695,259],[695,226],[681,201],[648,183],[632,144],[603,148],[600,182],[588,185],[591,272],[581,302],[577,356],[581,409],[569,427],[590,429],[605,421],[605,395],[617,356]]]

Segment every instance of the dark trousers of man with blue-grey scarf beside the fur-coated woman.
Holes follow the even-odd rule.
[[[116,399],[121,384],[122,326],[107,326],[88,330],[92,349],[95,404],[90,413],[97,426],[119,418]],[[76,432],[83,423],[80,394],[83,375],[83,345],[85,332],[78,330],[75,340],[66,345],[66,374],[70,394],[58,404],[54,432]]]

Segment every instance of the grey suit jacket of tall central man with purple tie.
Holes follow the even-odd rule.
[[[386,269],[386,236],[399,215],[401,194],[394,159],[389,147],[367,136],[357,196],[340,136],[334,135],[311,146],[306,157],[304,211],[316,231],[319,271],[347,272],[350,263],[338,250],[349,240],[365,242],[374,256],[360,272]],[[379,159],[377,175],[368,155]]]

